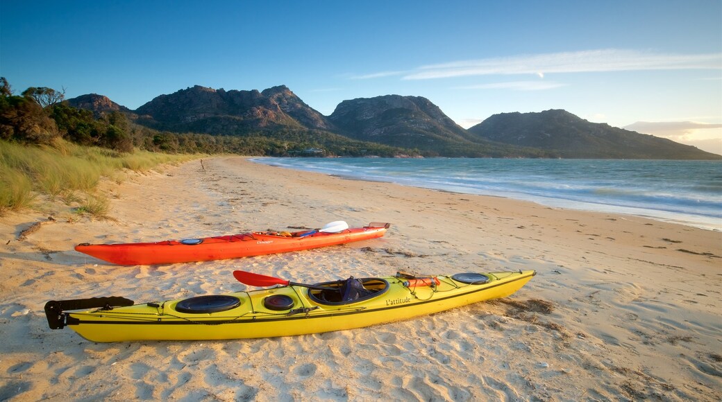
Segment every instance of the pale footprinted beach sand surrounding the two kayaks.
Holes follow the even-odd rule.
[[[243,158],[203,164],[106,182],[110,220],[60,202],[0,218],[0,400],[722,400],[718,231]],[[373,241],[219,262],[121,267],[73,250],[333,220],[393,225]],[[243,290],[234,269],[297,282],[399,269],[539,274],[504,300],[308,336],[97,344],[45,321],[48,300]]]

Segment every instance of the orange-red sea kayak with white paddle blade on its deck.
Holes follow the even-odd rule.
[[[251,232],[230,236],[167,240],[154,243],[79,244],[76,251],[113,264],[154,265],[210,261],[286,253],[379,238],[391,223],[373,222],[349,228],[343,221],[322,229],[299,232]]]

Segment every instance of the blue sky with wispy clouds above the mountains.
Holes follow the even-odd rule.
[[[136,109],[284,84],[330,115],[421,96],[463,127],[564,109],[722,153],[722,1],[0,1],[0,76]]]

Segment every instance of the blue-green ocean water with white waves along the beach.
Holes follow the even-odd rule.
[[[722,162],[253,158],[261,164],[722,230]]]

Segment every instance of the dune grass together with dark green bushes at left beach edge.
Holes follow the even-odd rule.
[[[0,77],[0,215],[43,210],[64,202],[77,213],[107,215],[109,202],[97,191],[104,177],[121,182],[128,171],[160,169],[206,151],[204,143],[179,141],[133,125],[120,112],[94,115],[69,107],[64,93],[30,87],[14,95]]]

